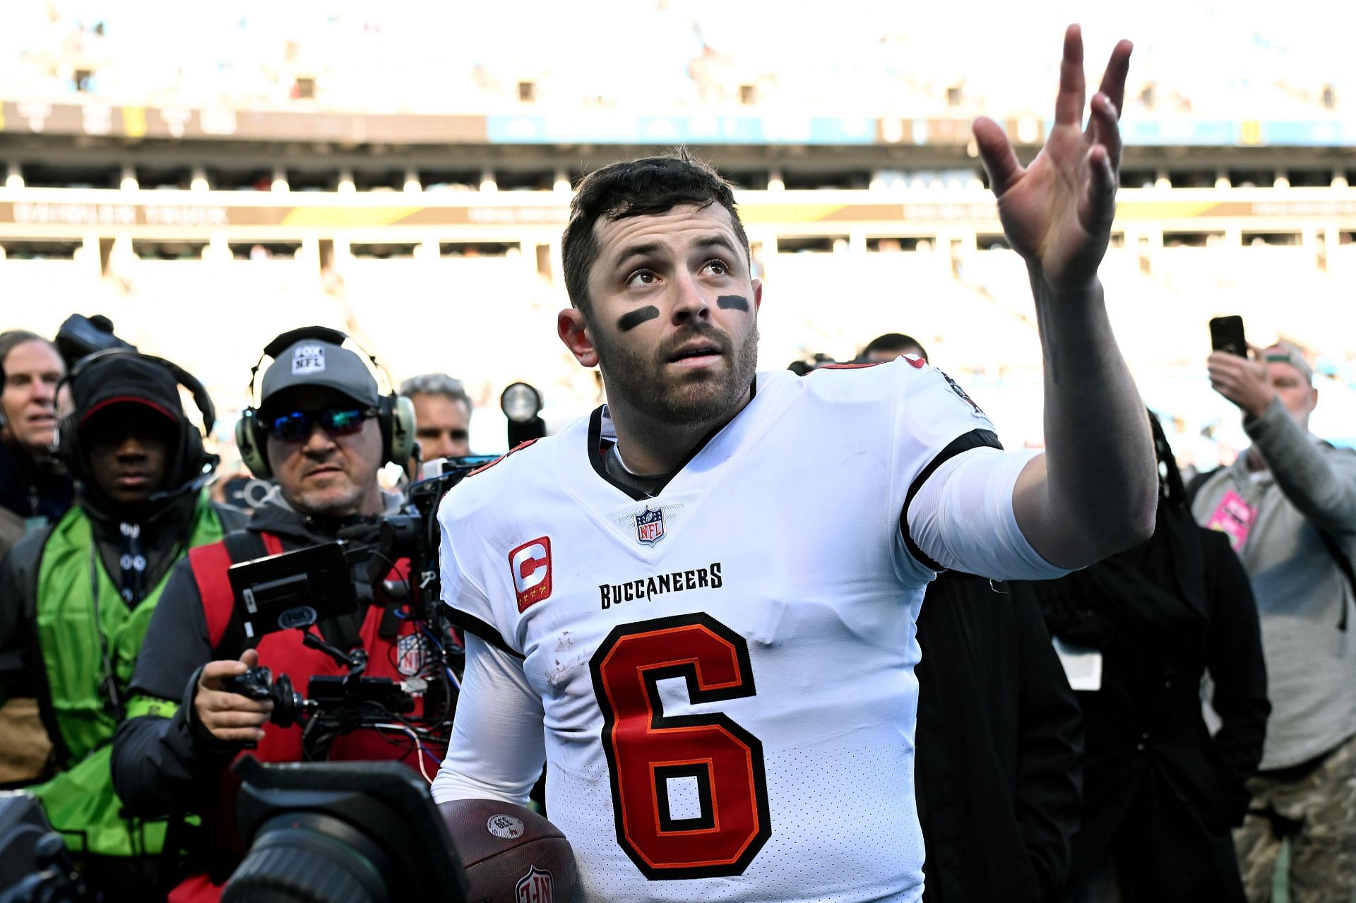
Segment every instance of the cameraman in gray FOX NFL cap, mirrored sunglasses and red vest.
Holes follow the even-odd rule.
[[[328,336],[338,340],[327,340]],[[247,747],[264,762],[324,755],[305,748],[297,725],[270,723],[273,702],[228,691],[226,681],[255,664],[287,674],[298,690],[315,675],[344,673],[287,629],[247,637],[235,609],[226,568],[233,561],[332,542],[376,530],[380,515],[400,510],[377,472],[404,464],[414,445],[407,401],[380,396],[377,381],[343,335],[304,328],[278,336],[264,357],[258,411],[237,430],[255,476],[275,489],[244,530],[195,550],[171,576],[146,633],[132,683],[132,715],[114,742],[113,778],[127,809],[142,816],[199,814],[197,838],[186,838],[195,875],[171,900],[216,900],[240,861],[235,837],[235,781],[228,771]],[[404,559],[393,563],[396,571]],[[370,605],[306,628],[344,652],[366,652],[369,675],[401,681],[427,666],[428,647],[405,606]],[[422,712],[422,702],[416,713]],[[427,747],[424,747],[427,748]],[[400,732],[359,729],[334,740],[330,759],[396,759],[419,767],[420,748]],[[442,748],[428,750],[441,757]],[[435,765],[430,759],[430,763]]]

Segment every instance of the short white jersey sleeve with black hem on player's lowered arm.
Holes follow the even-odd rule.
[[[438,527],[442,537],[438,548],[438,571],[442,601],[452,609],[447,620],[464,632],[522,659],[522,649],[513,645],[513,621],[498,610],[485,593],[484,579],[477,579],[477,565],[484,567],[483,542],[469,518],[458,507],[460,502],[457,489],[453,489],[438,507]]]

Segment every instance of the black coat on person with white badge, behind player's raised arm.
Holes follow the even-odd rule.
[[[1052,633],[1102,652],[1101,689],[1078,694],[1086,808],[1071,887],[1109,854],[1138,862],[1128,880],[1142,894],[1127,899],[1241,899],[1229,828],[1248,808],[1271,705],[1257,607],[1227,538],[1163,502],[1151,540],[1036,587]]]

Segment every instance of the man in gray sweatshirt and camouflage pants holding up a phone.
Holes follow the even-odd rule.
[[[1211,385],[1243,412],[1253,445],[1204,477],[1192,514],[1229,534],[1252,580],[1272,713],[1253,800],[1235,834],[1249,900],[1271,899],[1281,839],[1290,899],[1348,900],[1356,887],[1356,453],[1309,431],[1313,372],[1281,342],[1216,351]]]

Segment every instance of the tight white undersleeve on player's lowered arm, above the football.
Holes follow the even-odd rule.
[[[491,799],[526,805],[546,761],[544,717],[522,660],[468,636],[466,671],[447,758],[433,782],[434,803]]]

